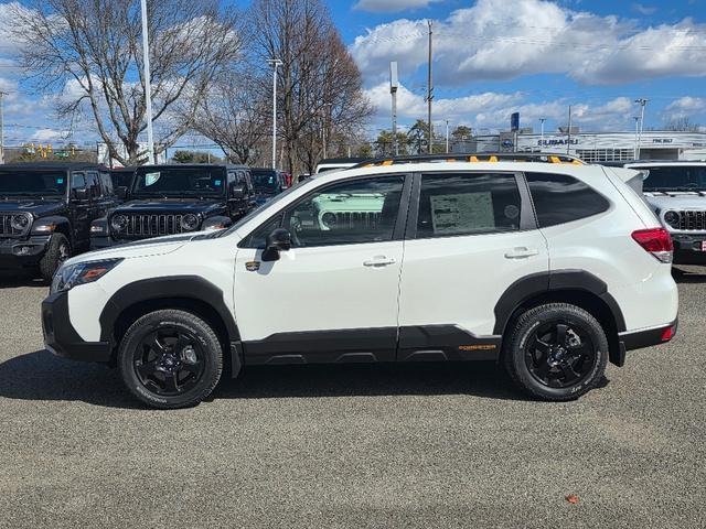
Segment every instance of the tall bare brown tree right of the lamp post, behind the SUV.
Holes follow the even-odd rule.
[[[267,60],[282,62],[278,119],[285,164],[292,174],[301,162],[311,172],[327,139],[360,128],[372,114],[361,73],[320,0],[255,0],[250,25],[248,55],[263,68],[263,94],[271,74]]]

